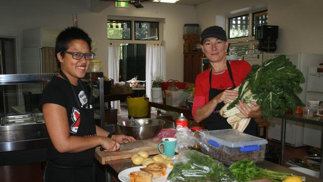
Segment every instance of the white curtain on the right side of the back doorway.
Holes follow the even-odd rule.
[[[152,82],[162,76],[161,45],[146,44],[146,94],[152,98]]]

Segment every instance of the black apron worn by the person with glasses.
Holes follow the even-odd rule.
[[[62,71],[60,71],[60,75],[71,84]],[[78,80],[78,84],[85,93],[80,80]],[[81,106],[72,84],[71,87],[78,103],[78,109],[80,110],[81,123],[78,129],[78,136],[96,134],[94,108],[90,105],[90,100],[87,99],[86,105]],[[95,148],[88,149],[86,152],[88,157],[94,159]],[[94,182],[94,169],[95,167],[93,164],[91,166],[69,167],[56,165],[48,161],[44,173],[44,182]]]

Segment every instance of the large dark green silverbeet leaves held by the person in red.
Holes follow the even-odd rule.
[[[243,95],[251,91],[253,99],[262,107],[263,116],[271,118],[282,115],[289,109],[294,113],[296,106],[304,105],[295,94],[302,92],[300,84],[304,82],[302,72],[285,55],[280,55],[261,65],[252,65],[251,71],[240,85],[239,96],[227,109],[235,107],[240,99],[248,102],[249,98]]]

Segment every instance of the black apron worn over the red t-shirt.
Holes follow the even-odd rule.
[[[230,76],[230,80],[233,84],[233,87],[230,88],[229,90],[233,90],[236,88],[236,85],[234,83],[233,80],[233,76],[232,76],[232,71],[231,71],[231,67],[229,64],[229,61],[227,61],[227,68],[228,68],[228,72],[229,72],[229,76]],[[225,90],[218,90],[218,89],[213,89],[212,88],[212,69],[210,70],[210,91],[209,91],[209,101],[211,101],[215,96],[217,96],[218,94],[220,94],[222,91]],[[214,111],[211,113],[211,115],[209,117],[207,117],[206,119],[204,119],[204,121],[206,122],[206,129],[208,130],[222,130],[222,129],[232,129],[231,125],[227,122],[227,118],[224,118],[220,115],[219,111],[220,109],[224,106],[224,102],[218,103],[218,105],[215,107]],[[248,126],[245,128],[245,130],[243,131],[244,133],[256,136],[257,134],[257,125],[256,122],[254,121],[254,119],[251,118]]]

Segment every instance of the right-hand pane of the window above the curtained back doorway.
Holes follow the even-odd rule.
[[[159,22],[135,21],[135,40],[159,40]]]

